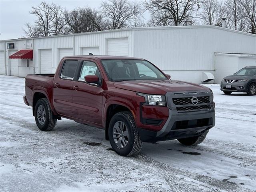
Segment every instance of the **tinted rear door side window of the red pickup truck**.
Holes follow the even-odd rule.
[[[77,65],[78,65],[78,61],[76,60],[66,60],[63,65],[60,78],[73,80]]]

